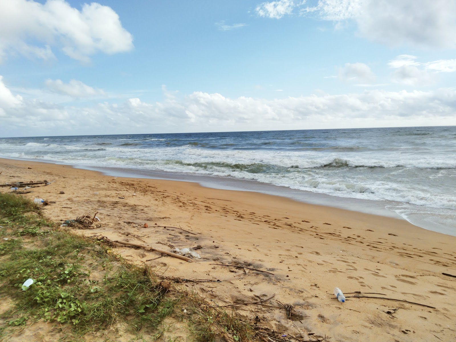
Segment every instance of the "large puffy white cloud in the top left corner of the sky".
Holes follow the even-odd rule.
[[[0,61],[10,53],[41,59],[55,58],[51,47],[89,62],[97,52],[114,54],[133,48],[131,34],[108,6],[84,4],[82,10],[64,0],[0,1]]]

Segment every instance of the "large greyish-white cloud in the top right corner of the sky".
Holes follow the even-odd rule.
[[[389,46],[456,47],[454,0],[318,0],[301,13],[353,20],[363,36]]]

